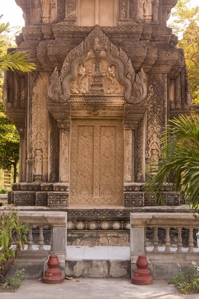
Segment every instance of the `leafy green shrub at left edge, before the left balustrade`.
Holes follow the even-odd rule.
[[[27,232],[28,224],[22,223],[17,211],[11,207],[7,212],[0,210],[0,283],[5,282],[8,270],[15,264],[20,249],[24,248]]]

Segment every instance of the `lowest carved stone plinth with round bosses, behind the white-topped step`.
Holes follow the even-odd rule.
[[[17,210],[67,212],[67,245],[73,246],[130,246],[130,213],[189,213],[189,208],[184,205],[148,207],[26,205],[17,206]],[[150,233],[149,231],[149,240],[153,238]]]

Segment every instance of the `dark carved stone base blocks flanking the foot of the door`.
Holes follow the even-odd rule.
[[[17,206],[59,208],[73,205],[69,201],[68,183],[15,183],[12,184],[12,190],[8,193],[8,203]],[[156,196],[144,192],[144,183],[125,183],[123,194],[123,205],[119,205],[121,207],[160,205]],[[178,206],[182,203],[180,194],[172,191],[171,186],[165,184],[163,194],[167,206]],[[102,207],[103,205],[98,206]]]

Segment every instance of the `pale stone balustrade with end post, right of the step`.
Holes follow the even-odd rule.
[[[140,254],[199,254],[194,248],[194,230],[198,232],[199,215],[191,213],[132,213],[130,215],[131,257]],[[153,246],[147,247],[146,228],[153,228]],[[165,246],[159,244],[158,229],[165,229]],[[170,240],[171,228],[178,235],[175,245]],[[189,229],[188,248],[183,248],[182,229]],[[198,242],[199,243],[199,242]],[[134,260],[134,259],[133,259]]]

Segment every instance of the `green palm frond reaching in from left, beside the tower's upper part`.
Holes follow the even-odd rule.
[[[0,57],[0,70],[7,71],[9,68],[29,72],[35,70],[34,63],[30,62],[30,54],[25,52],[12,52]]]

